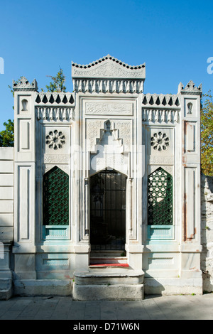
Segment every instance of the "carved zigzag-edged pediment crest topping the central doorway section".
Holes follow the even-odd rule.
[[[88,65],[72,63],[73,78],[100,78],[100,79],[143,79],[145,80],[145,64],[131,66],[121,62],[111,55],[94,61]]]

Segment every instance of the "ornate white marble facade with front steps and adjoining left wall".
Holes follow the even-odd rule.
[[[202,293],[202,87],[143,94],[145,79],[145,64],[107,55],[72,63],[74,92],[13,84],[15,146],[0,152],[4,298]]]

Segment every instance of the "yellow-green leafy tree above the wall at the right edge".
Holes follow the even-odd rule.
[[[201,107],[201,170],[213,176],[213,103],[211,92],[203,95]]]

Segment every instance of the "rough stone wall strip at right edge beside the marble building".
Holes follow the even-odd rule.
[[[203,292],[213,291],[213,177],[201,175],[201,270]]]

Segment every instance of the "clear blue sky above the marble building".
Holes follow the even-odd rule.
[[[61,67],[72,91],[71,62],[108,53],[129,65],[146,63],[145,93],[176,94],[190,80],[213,91],[212,14],[208,0],[0,0],[0,131],[13,119],[12,80],[35,78],[45,90],[47,75]]]

